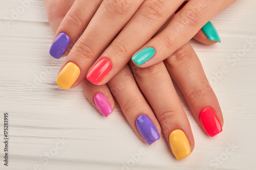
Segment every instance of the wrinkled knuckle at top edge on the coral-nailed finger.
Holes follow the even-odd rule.
[[[165,5],[160,0],[146,1],[139,12],[148,19],[159,20],[164,16]]]

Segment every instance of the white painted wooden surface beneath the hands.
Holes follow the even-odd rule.
[[[80,86],[60,89],[55,80],[63,60],[48,53],[54,33],[44,1],[35,0],[8,27],[4,18],[11,17],[12,10],[20,5],[18,0],[0,0],[0,169],[214,169],[217,158],[221,160],[219,169],[255,169],[254,0],[237,1],[212,19],[222,39],[220,44],[206,46],[191,41],[218,96],[225,123],[216,137],[205,135],[178,91],[196,143],[194,152],[181,161],[172,156],[163,136],[151,146],[142,143],[118,105],[105,118],[90,105]],[[254,44],[245,52],[243,46],[250,39]],[[236,63],[227,61],[232,53],[240,55]],[[223,65],[229,72],[214,81],[213,71]],[[10,119],[8,167],[3,165],[4,112]],[[65,145],[54,153],[59,139],[64,139]],[[230,144],[238,148],[227,155]],[[140,148],[145,155],[124,168],[127,162],[133,163],[131,154]],[[48,161],[40,159],[46,152],[53,154]]]

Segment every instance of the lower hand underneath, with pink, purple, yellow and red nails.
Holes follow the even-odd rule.
[[[48,17],[52,16],[49,17],[49,22],[54,32],[71,6],[69,0],[59,6],[59,9],[50,12],[49,6],[46,6]],[[197,39],[212,43],[200,32]],[[128,122],[142,141],[148,144],[155,142],[160,138],[162,128],[174,156],[182,159],[193,151],[195,142],[170,76],[182,90],[201,128],[210,136],[220,133],[223,117],[218,100],[189,43],[164,62],[154,66],[138,68],[130,61],[129,65],[125,65],[108,82],[108,86],[93,85],[87,79],[82,80],[81,86],[90,102],[104,116],[108,116],[114,108],[111,90]]]

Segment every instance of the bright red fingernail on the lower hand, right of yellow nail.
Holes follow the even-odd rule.
[[[204,108],[199,114],[201,123],[209,136],[215,136],[222,131],[220,119],[212,108]]]

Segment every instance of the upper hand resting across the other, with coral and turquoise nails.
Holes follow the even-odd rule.
[[[190,0],[175,14],[184,0],[75,0],[60,23],[50,54],[59,58],[70,50],[60,70],[72,62],[76,76],[57,79],[57,84],[68,89],[86,77],[93,84],[105,84],[131,58],[143,68],[159,63],[234,1]],[[166,28],[151,39],[173,14]],[[210,24],[205,30],[209,28]],[[210,38],[220,41],[216,35]]]

